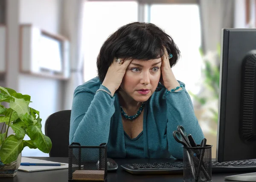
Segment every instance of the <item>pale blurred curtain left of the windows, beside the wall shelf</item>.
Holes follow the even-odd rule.
[[[63,109],[71,109],[73,93],[83,83],[84,0],[63,0],[61,33],[70,40],[70,79],[64,83]]]

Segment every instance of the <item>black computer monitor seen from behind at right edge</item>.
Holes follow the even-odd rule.
[[[218,162],[256,159],[256,29],[221,34]]]

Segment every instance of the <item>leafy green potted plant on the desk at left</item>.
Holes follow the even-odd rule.
[[[30,108],[30,102],[29,95],[0,86],[0,177],[16,175],[24,147],[38,148],[44,153],[52,148],[51,140],[42,133],[39,111]],[[15,134],[8,136],[9,128]],[[23,140],[25,134],[30,140]]]

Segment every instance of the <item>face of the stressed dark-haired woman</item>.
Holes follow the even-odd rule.
[[[132,60],[128,65],[121,89],[137,102],[145,102],[157,88],[161,76],[161,58],[155,60]]]

